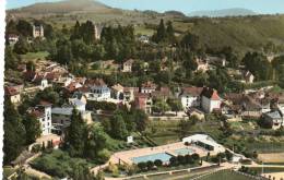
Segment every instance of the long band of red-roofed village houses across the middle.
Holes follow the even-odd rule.
[[[131,70],[129,64],[130,61],[123,69]],[[85,108],[87,101],[123,104],[152,115],[153,104],[157,98],[165,101],[169,98],[179,99],[182,111],[189,116],[220,112],[228,118],[263,117],[273,122],[274,129],[284,125],[284,94],[263,91],[229,93],[221,97],[216,89],[210,87],[189,86],[173,92],[169,87],[159,87],[151,81],[142,83],[140,87],[125,87],[120,84],[108,86],[103,79],[75,77],[64,67],[51,61],[38,61],[33,71],[26,70],[24,65],[20,65],[20,69],[25,79],[25,86],[7,83],[4,87],[5,95],[13,104],[19,105],[23,94],[33,95],[35,91],[43,91],[52,85],[61,87],[62,93],[69,97],[68,103],[61,107],[43,103],[28,109],[40,121],[43,135],[62,133],[70,124],[73,108],[81,112],[87,123],[92,123],[92,111]],[[27,84],[29,85],[26,87]]]

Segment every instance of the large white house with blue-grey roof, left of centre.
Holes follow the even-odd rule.
[[[110,98],[110,88],[103,79],[87,80],[86,85],[90,88],[86,94],[88,100],[107,101]]]

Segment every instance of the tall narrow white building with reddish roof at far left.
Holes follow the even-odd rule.
[[[42,125],[42,135],[48,135],[52,130],[51,104],[43,103],[27,110],[35,116]]]

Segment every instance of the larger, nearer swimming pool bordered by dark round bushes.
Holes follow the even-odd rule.
[[[159,159],[163,163],[166,163],[166,161],[169,161],[170,157],[173,157],[173,156],[167,153],[157,153],[157,154],[152,154],[152,155],[146,155],[146,156],[133,157],[132,160],[134,161],[134,164],[139,164],[142,161],[149,161],[149,160],[154,161],[156,159]]]

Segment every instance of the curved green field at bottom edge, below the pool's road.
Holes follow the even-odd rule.
[[[213,175],[205,176],[200,180],[228,180],[228,179],[229,180],[253,180],[252,178],[229,170],[218,171]]]

